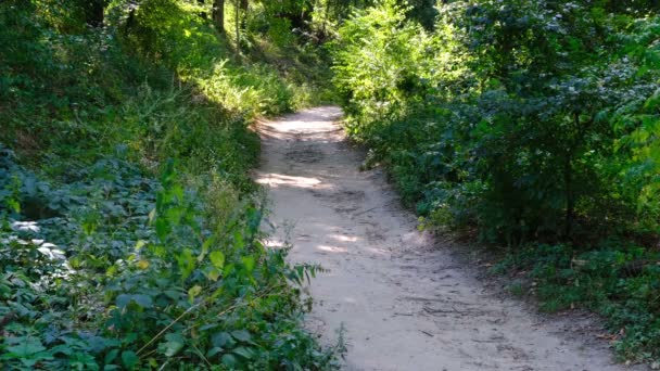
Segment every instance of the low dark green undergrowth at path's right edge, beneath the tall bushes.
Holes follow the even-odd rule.
[[[592,251],[542,244],[516,251],[491,270],[529,279],[513,282],[511,293],[533,295],[543,311],[584,307],[600,315],[621,360],[652,363],[660,348],[659,259],[659,252],[624,241]]]

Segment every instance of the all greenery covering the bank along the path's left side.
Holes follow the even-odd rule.
[[[314,102],[314,78],[269,67],[257,55],[276,47],[237,47],[205,11],[0,4],[3,369],[334,367],[302,329],[319,267],[264,246],[248,175],[251,119]],[[290,59],[320,57],[297,42]]]

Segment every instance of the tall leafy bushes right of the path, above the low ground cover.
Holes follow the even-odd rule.
[[[652,95],[656,78],[653,54],[621,54],[620,46],[648,47],[657,35],[642,22],[633,35],[651,35],[633,41],[624,34],[633,20],[601,10],[454,2],[441,8],[433,35],[392,2],[357,12],[333,48],[348,130],[392,165],[406,200],[427,213],[471,205],[473,217],[456,220],[477,222],[490,241],[652,225],[657,214],[635,212],[640,189],[617,187],[632,176],[622,177],[631,128],[613,123]],[[625,41],[607,38],[617,33]],[[470,202],[458,191],[423,197],[448,194],[433,184],[469,183],[481,189]]]

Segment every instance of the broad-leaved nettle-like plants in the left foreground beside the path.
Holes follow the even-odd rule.
[[[11,152],[3,153],[7,165]],[[109,159],[92,167],[97,178],[81,176],[97,179],[89,189],[84,181],[68,186],[79,204],[17,221],[15,205],[28,195],[20,181],[30,178],[13,163],[1,170],[13,174],[2,178],[9,179],[3,204],[13,207],[2,208],[1,218],[3,364],[332,367],[333,351],[320,350],[300,328],[296,286],[319,268],[292,267],[287,250],[266,248],[255,204],[212,232],[203,199],[183,190],[174,162],[156,182]]]

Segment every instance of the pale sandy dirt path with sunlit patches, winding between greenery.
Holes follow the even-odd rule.
[[[330,270],[312,284],[309,325],[327,342],[345,327],[346,370],[623,369],[602,344],[497,297],[417,232],[382,174],[358,170],[340,117],[318,107],[264,123],[256,177],[271,221],[293,226],[292,259]]]

